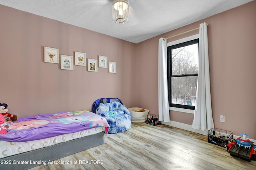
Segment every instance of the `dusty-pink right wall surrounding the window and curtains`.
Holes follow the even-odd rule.
[[[158,114],[158,39],[206,22],[208,26],[212,111],[216,128],[256,139],[256,1],[186,25],[136,45],[138,104]],[[167,42],[199,33],[192,31]],[[219,121],[225,115],[226,122]],[[192,125],[194,115],[170,111],[170,119]]]

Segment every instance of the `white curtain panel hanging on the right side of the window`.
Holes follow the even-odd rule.
[[[192,128],[205,131],[213,127],[207,25],[206,23],[201,23],[199,28],[196,107]]]

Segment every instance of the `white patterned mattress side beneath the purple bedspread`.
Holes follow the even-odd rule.
[[[46,139],[39,139],[34,141],[26,141],[26,142],[0,141],[0,158],[56,145],[58,143],[64,143],[66,141],[71,141],[73,139],[94,135],[103,131],[105,131],[105,127],[96,127],[92,129],[86,129],[84,131],[58,135],[55,137],[49,137]]]

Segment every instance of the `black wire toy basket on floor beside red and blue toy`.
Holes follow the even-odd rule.
[[[208,143],[226,148],[228,141],[233,139],[233,132],[218,128],[208,130]]]

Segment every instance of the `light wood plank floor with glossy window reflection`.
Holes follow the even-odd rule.
[[[170,127],[133,123],[106,134],[106,143],[64,158],[80,164],[41,165],[30,170],[256,170],[256,161],[234,158],[207,136]],[[86,162],[87,161],[87,162]]]

